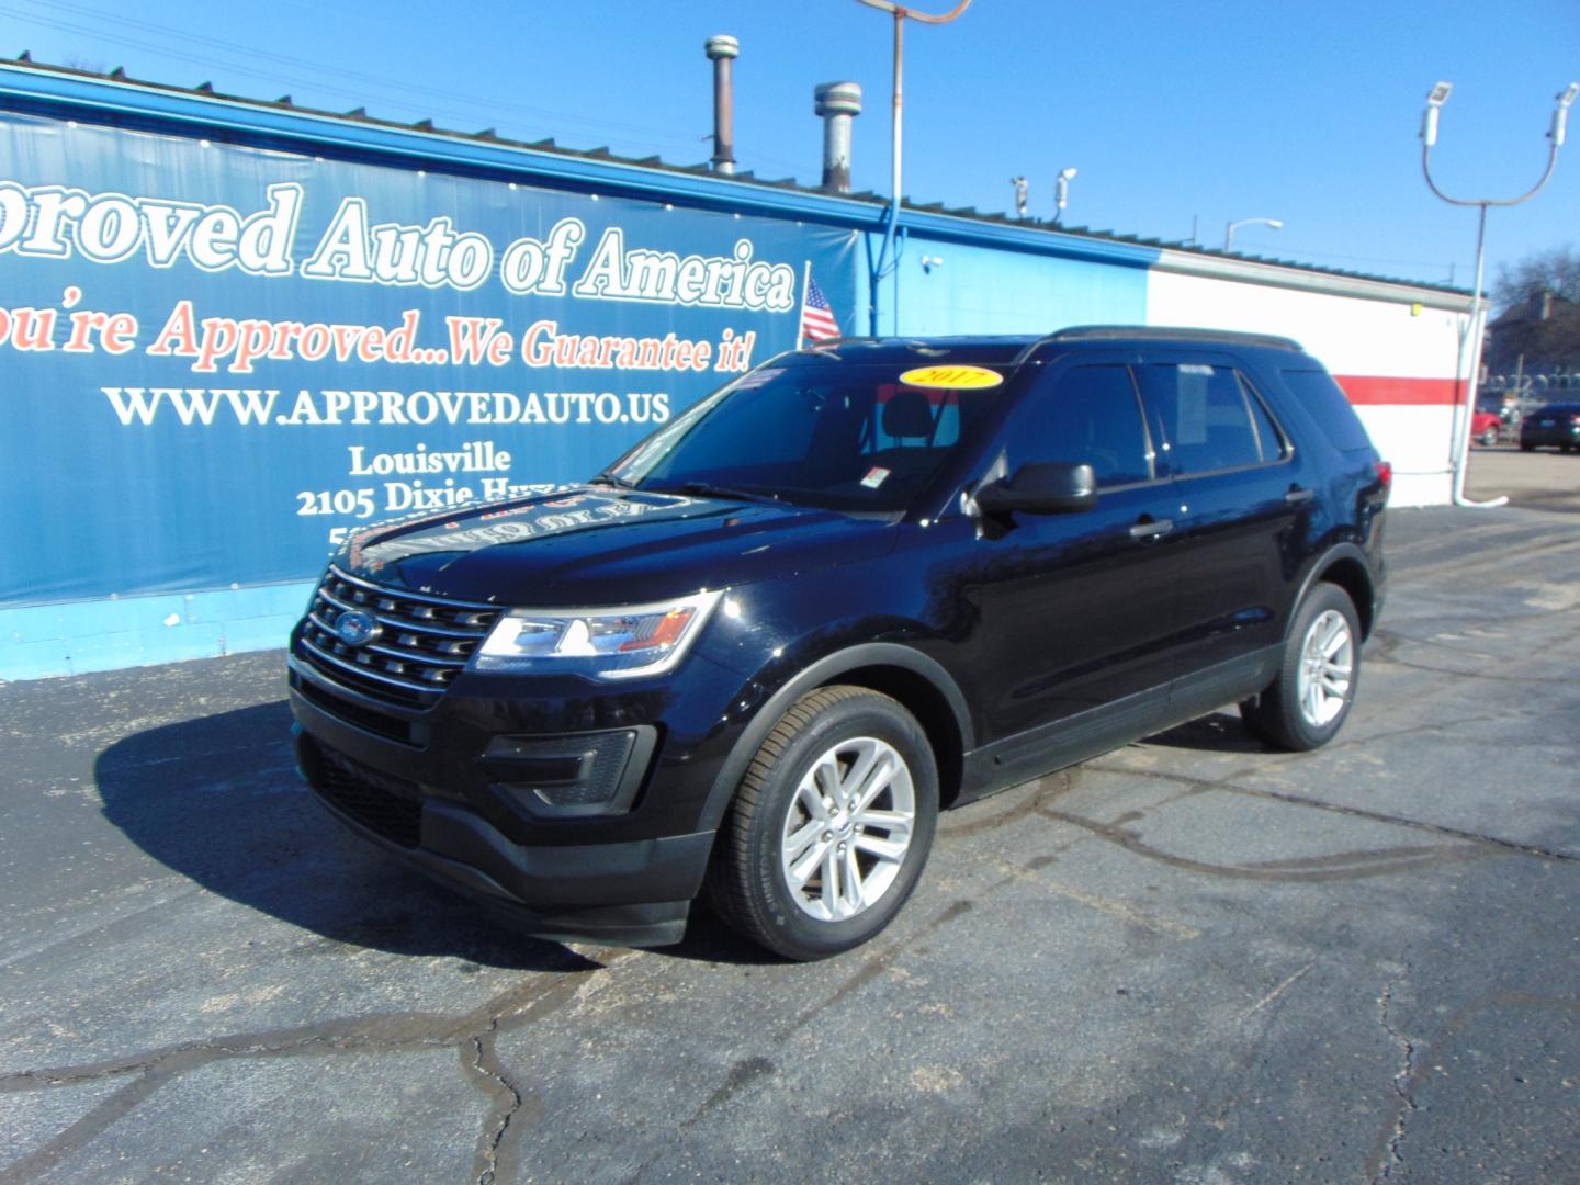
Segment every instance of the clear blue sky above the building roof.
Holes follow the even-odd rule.
[[[856,0],[0,0],[0,55],[695,163],[711,152],[702,44],[733,33],[741,167],[817,183],[812,87],[853,81],[855,183],[888,193],[891,27]],[[905,191],[1005,210],[1025,174],[1048,218],[1074,166],[1070,226],[1199,228],[1221,246],[1229,220],[1272,216],[1281,231],[1245,228],[1236,246],[1468,284],[1476,213],[1420,177],[1438,79],[1455,84],[1439,183],[1523,191],[1547,161],[1553,95],[1580,79],[1580,2],[975,0],[951,25],[907,25]],[[1547,190],[1492,213],[1488,278],[1566,243],[1580,243],[1580,106]]]

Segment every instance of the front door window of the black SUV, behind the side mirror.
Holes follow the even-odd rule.
[[[1044,379],[1010,430],[1011,472],[1027,461],[1087,463],[1098,485],[1152,479],[1136,386],[1125,367],[1074,367]]]

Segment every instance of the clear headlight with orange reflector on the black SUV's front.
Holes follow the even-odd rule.
[[[722,592],[618,608],[514,608],[477,651],[483,672],[564,672],[626,679],[684,657]]]

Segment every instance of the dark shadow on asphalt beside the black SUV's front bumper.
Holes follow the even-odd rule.
[[[330,942],[488,967],[592,965],[526,937],[479,904],[341,826],[295,773],[283,700],[126,736],[95,760],[104,817],[166,867]],[[771,956],[694,912],[665,954],[755,964]]]

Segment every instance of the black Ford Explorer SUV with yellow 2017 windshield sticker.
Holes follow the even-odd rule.
[[[793,959],[904,905],[940,806],[1239,703],[1334,736],[1378,460],[1296,343],[842,340],[564,493],[352,536],[291,640],[303,774],[531,934]]]

